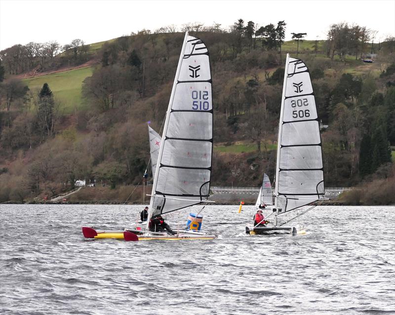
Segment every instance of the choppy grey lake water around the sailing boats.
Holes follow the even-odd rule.
[[[395,314],[395,207],[319,207],[295,237],[245,235],[252,206],[206,206],[214,241],[82,237],[141,209],[0,205],[0,313]]]

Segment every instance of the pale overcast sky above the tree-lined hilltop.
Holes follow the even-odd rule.
[[[285,40],[325,39],[329,25],[356,23],[378,31],[377,41],[395,35],[394,16],[395,0],[0,0],[0,50],[30,41],[89,44],[170,24],[228,28],[240,18],[260,26],[285,20]]]

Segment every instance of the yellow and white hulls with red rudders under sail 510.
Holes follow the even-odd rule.
[[[142,232],[141,230],[124,229],[123,231],[102,231],[90,227],[82,227],[82,234],[88,239],[118,239],[125,241],[183,241],[183,240],[213,240],[216,235],[193,230],[178,230],[177,234],[169,235],[160,232]]]

